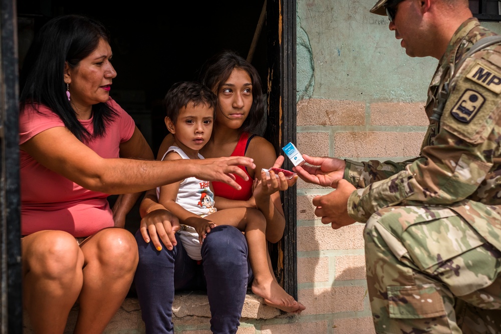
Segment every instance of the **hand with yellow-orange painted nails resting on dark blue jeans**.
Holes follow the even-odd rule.
[[[139,230],[144,241],[150,242],[151,238],[157,250],[162,249],[158,237],[168,250],[172,250],[177,244],[175,233],[179,228],[179,220],[176,216],[166,209],[157,209],[149,212],[141,219]]]

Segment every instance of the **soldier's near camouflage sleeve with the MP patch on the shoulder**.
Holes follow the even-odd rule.
[[[365,222],[386,206],[446,205],[478,189],[500,153],[501,67],[496,64],[501,64],[498,53],[478,52],[461,66],[437,135],[425,138],[420,157],[403,170],[354,191],[348,200],[353,219]]]

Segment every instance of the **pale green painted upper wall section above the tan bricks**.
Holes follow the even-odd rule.
[[[410,58],[388,29],[388,18],[369,12],[376,0],[299,0],[298,101],[426,101],[438,61]],[[501,33],[501,24],[484,24]]]

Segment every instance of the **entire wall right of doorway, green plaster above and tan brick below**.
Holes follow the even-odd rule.
[[[304,154],[402,161],[419,153],[437,60],[408,57],[388,18],[369,12],[375,3],[297,1],[296,144]],[[312,199],[333,190],[298,181],[298,294],[307,307],[298,322],[314,333],[374,333],[365,225],[333,230],[314,213]]]

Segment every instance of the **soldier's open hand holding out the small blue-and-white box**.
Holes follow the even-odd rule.
[[[313,166],[296,166],[293,170],[304,181],[336,188],[338,181],[343,179],[346,161],[329,157],[310,157],[306,154],[303,154],[303,159]]]

